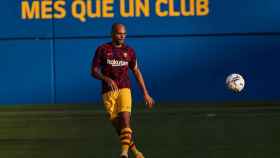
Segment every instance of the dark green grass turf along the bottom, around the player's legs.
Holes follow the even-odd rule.
[[[3,158],[117,158],[102,106],[0,107]],[[279,158],[280,106],[158,106],[133,111],[147,158]]]

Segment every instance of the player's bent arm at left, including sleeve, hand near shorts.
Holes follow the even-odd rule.
[[[98,79],[102,80],[107,83],[113,91],[118,90],[117,84],[109,77],[105,76],[101,72],[101,64],[102,64],[102,48],[98,47],[95,51],[93,60],[92,60],[92,68],[91,68],[91,75]]]

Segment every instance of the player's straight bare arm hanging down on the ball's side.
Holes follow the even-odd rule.
[[[155,101],[154,99],[149,95],[149,92],[146,88],[146,85],[145,85],[145,81],[144,81],[144,78],[142,76],[142,73],[140,71],[140,69],[135,66],[135,68],[132,70],[142,92],[143,92],[143,95],[144,95],[144,100],[148,106],[148,108],[152,108],[153,105],[155,104]]]

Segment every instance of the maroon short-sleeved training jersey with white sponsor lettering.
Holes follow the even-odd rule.
[[[92,62],[92,71],[98,67],[103,75],[115,81],[119,89],[130,88],[128,68],[133,69],[136,64],[136,55],[131,47],[123,45],[117,48],[112,43],[106,43],[96,49]],[[95,74],[93,75],[96,76]],[[103,81],[102,93],[110,90],[110,87]]]

